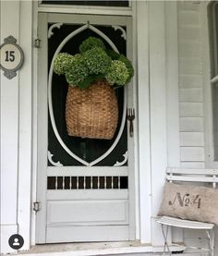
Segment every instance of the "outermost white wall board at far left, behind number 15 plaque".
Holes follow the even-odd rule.
[[[9,18],[8,13],[12,16]],[[9,35],[19,39],[19,3],[1,2],[1,43]],[[8,27],[5,25],[8,24]],[[19,41],[18,41],[19,43]],[[18,232],[18,79],[1,71],[1,248]],[[8,209],[8,211],[6,211]]]

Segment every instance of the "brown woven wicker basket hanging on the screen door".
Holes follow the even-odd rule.
[[[69,136],[111,140],[117,120],[115,91],[106,80],[96,80],[83,90],[68,87],[66,121]]]

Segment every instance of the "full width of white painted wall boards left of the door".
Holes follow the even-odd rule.
[[[31,175],[31,1],[1,1],[1,43],[9,35],[24,52],[14,79],[1,70],[1,250],[13,251],[8,238],[25,237],[30,246]]]

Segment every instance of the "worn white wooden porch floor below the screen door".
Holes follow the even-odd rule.
[[[186,248],[184,246],[171,247],[176,251],[176,255],[183,256],[206,256],[208,255],[202,251],[183,252]],[[124,241],[124,242],[91,242],[91,243],[63,243],[63,244],[44,244],[36,245],[27,251],[19,251],[18,254],[25,254],[25,256],[88,256],[88,255],[163,255],[161,252],[163,248],[152,247],[151,244],[141,244],[139,241]],[[181,252],[181,253],[179,253]],[[17,254],[17,255],[18,255]]]

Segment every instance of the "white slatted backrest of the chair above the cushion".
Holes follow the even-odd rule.
[[[189,181],[189,182],[207,182],[211,183],[215,189],[218,183],[218,169],[187,169],[167,167],[166,180]]]

